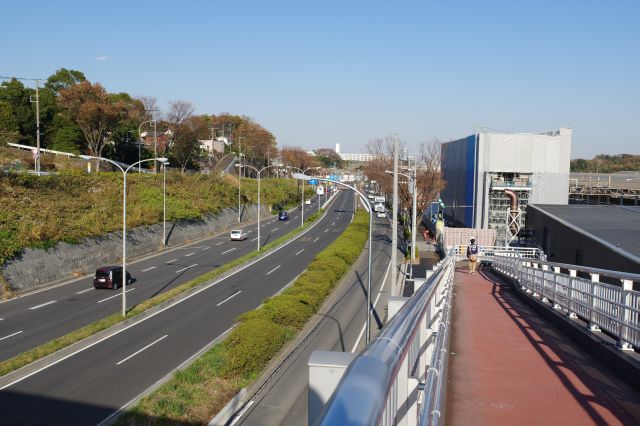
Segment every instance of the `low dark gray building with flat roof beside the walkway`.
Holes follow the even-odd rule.
[[[550,262],[640,273],[640,207],[529,204],[526,226]]]

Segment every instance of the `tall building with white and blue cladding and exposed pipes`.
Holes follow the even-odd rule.
[[[498,244],[509,244],[524,227],[528,203],[567,204],[571,134],[481,131],[442,144],[449,223],[495,229]]]

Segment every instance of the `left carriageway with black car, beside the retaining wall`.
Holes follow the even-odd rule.
[[[324,197],[323,197],[324,201]],[[305,205],[305,216],[318,209],[317,197]],[[288,221],[269,216],[261,221],[262,245],[300,226],[300,211]],[[254,251],[257,223],[243,225],[249,238],[230,241],[229,232],[165,250],[127,265],[136,280],[127,287],[127,308],[170,290]],[[105,265],[106,266],[106,265]],[[0,361],[122,310],[122,289],[93,288],[93,276],[0,303]]]

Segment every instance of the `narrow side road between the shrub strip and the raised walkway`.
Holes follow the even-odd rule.
[[[386,319],[390,287],[391,225],[376,219],[372,251],[372,338]],[[249,399],[245,409],[234,418],[235,425],[307,425],[309,367],[315,350],[359,352],[365,345],[366,257],[356,265],[345,283],[336,289],[335,304],[323,314],[310,335],[276,370],[259,392]],[[363,303],[364,302],[364,303]]]

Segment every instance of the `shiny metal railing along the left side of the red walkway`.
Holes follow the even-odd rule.
[[[447,381],[452,250],[345,371],[318,424],[439,424]]]

